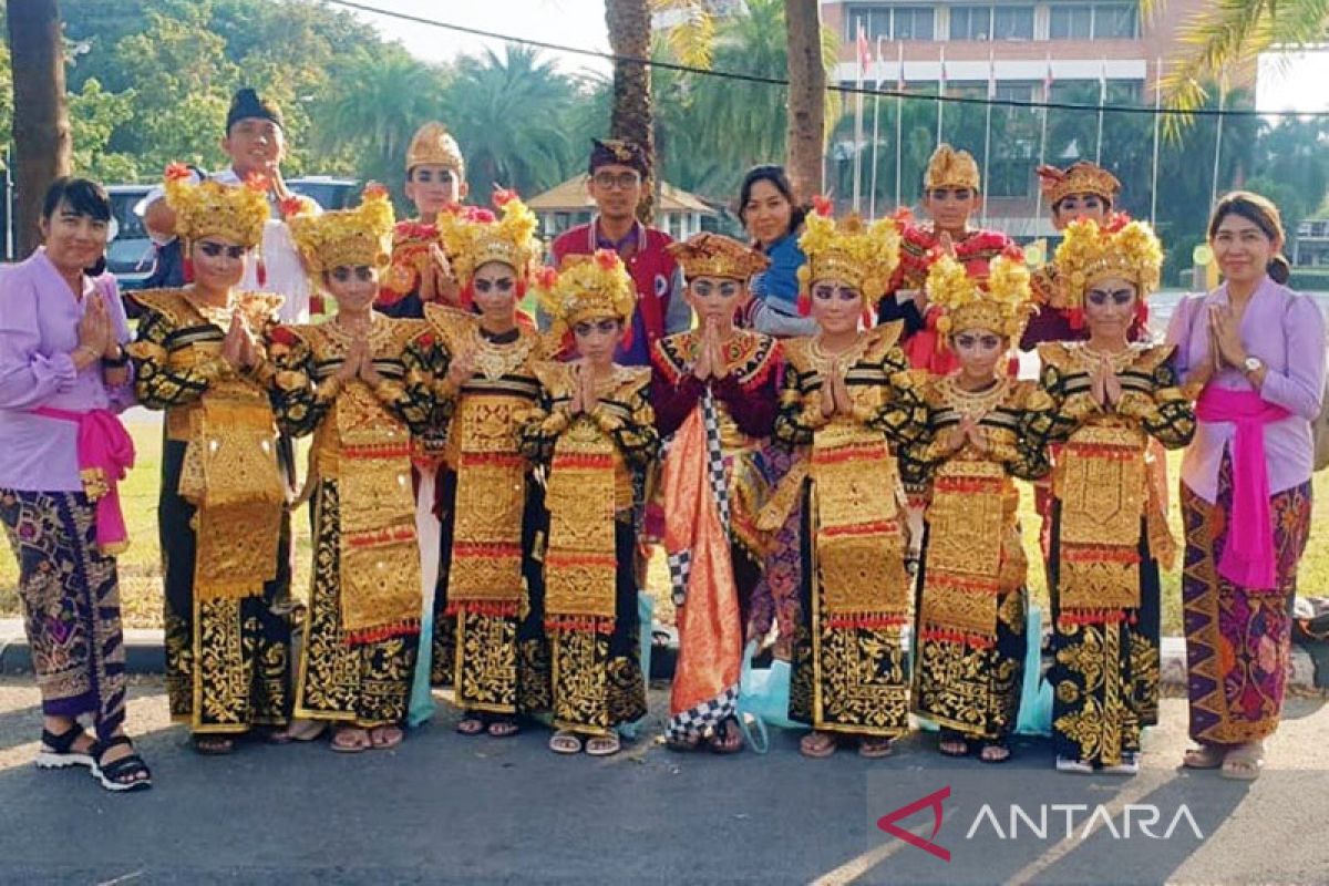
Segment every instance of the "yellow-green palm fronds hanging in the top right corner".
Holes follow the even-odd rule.
[[[1167,0],[1140,0],[1152,15]],[[1163,78],[1168,104],[1195,110],[1208,97],[1205,84],[1217,82],[1227,70],[1252,64],[1269,46],[1305,46],[1322,43],[1329,29],[1329,4],[1324,0],[1213,0],[1181,29],[1189,52]],[[1168,118],[1170,129],[1172,118]]]

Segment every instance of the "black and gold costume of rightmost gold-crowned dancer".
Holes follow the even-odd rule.
[[[1061,757],[1130,762],[1140,728],[1156,721],[1159,562],[1175,543],[1148,482],[1148,438],[1189,442],[1195,412],[1177,391],[1171,348],[1134,344],[1110,359],[1122,397],[1102,408],[1083,343],[1039,347],[1041,391],[1023,442],[1063,442],[1053,474],[1049,578],[1053,600],[1053,731]]]

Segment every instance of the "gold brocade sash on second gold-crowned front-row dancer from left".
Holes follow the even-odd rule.
[[[342,630],[348,643],[420,631],[411,433],[360,383],[336,402]]]

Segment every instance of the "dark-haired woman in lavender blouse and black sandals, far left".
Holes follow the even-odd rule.
[[[114,417],[133,401],[125,310],[109,274],[110,198],[61,178],[41,211],[44,246],[0,276],[0,521],[41,688],[41,768],[88,766],[108,790],[152,774],[125,736],[125,647],[116,484],[134,446]],[[92,715],[97,737],[77,717]]]

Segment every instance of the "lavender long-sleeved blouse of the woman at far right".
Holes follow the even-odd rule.
[[[1192,295],[1176,306],[1167,339],[1176,345],[1176,368],[1184,379],[1209,356],[1208,306],[1227,304],[1227,284],[1207,295]],[[1269,494],[1310,480],[1314,444],[1310,421],[1320,413],[1325,389],[1325,320],[1313,299],[1298,295],[1268,276],[1251,296],[1241,316],[1241,344],[1267,369],[1260,397],[1290,416],[1264,426],[1264,454]],[[1209,380],[1229,391],[1253,391],[1245,376],[1224,367]],[[1231,450],[1236,425],[1197,421],[1195,440],[1181,460],[1181,482],[1200,498],[1217,498],[1223,453]]]

